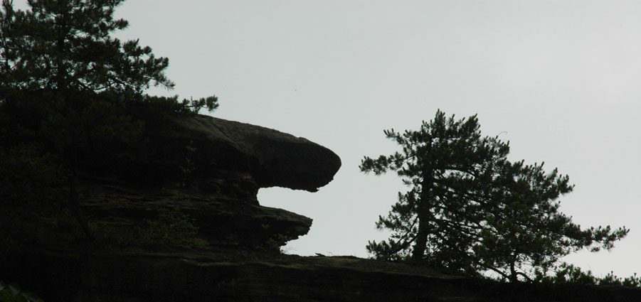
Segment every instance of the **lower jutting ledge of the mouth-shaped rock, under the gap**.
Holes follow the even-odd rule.
[[[311,218],[287,210],[194,188],[145,190],[85,178],[79,191],[83,209],[95,224],[132,230],[170,208],[189,215],[198,237],[212,246],[261,247],[270,240],[271,245],[282,245],[307,234],[312,225]]]

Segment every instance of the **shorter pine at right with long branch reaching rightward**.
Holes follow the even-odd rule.
[[[572,252],[611,249],[629,232],[610,226],[581,230],[559,212],[558,198],[571,193],[568,176],[544,164],[504,162],[486,190],[482,229],[472,246],[474,271],[492,271],[512,282],[533,281],[541,271],[563,269],[558,262]],[[538,271],[538,272],[537,272]]]

